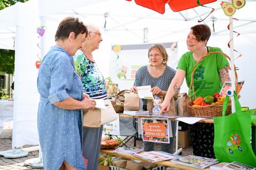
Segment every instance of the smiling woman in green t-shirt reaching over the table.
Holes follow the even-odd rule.
[[[187,47],[189,52],[183,54],[177,66],[177,72],[173,78],[162,104],[162,112],[170,109],[169,100],[179,90],[183,80],[186,78],[187,86],[190,85],[191,71],[203,56],[209,52],[222,52],[218,47],[207,47],[207,41],[211,36],[210,28],[205,24],[191,27],[187,37]],[[227,66],[229,65],[225,56],[221,54],[210,54],[205,57],[197,66],[193,77],[195,94],[199,96],[213,95],[219,92],[222,83],[230,81]],[[193,97],[193,91],[189,89],[189,94]],[[190,127],[193,142],[193,152],[196,156],[214,158],[213,124],[195,123]]]

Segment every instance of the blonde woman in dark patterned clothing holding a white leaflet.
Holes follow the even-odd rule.
[[[176,71],[167,66],[168,55],[163,44],[154,44],[148,49],[149,64],[140,67],[135,75],[134,87],[131,91],[137,91],[137,86],[152,87],[153,95],[165,97]],[[147,99],[143,100],[143,110],[147,110]],[[176,123],[171,121],[173,137],[169,143],[161,143],[161,150],[173,154]],[[145,151],[154,150],[154,142],[143,142]]]

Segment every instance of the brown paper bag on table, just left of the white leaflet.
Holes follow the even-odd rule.
[[[139,111],[140,98],[137,92],[125,91],[124,94],[124,111]]]

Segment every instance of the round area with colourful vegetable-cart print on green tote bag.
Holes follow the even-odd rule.
[[[241,158],[248,152],[243,135],[238,131],[229,131],[222,138],[223,152],[231,158]]]

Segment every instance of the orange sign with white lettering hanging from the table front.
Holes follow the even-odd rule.
[[[143,141],[170,143],[167,118],[141,118]]]

